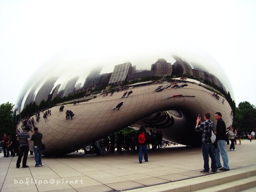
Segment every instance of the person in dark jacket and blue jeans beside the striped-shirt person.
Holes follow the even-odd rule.
[[[34,141],[34,155],[35,155],[35,167],[42,165],[42,138],[43,134],[38,132],[38,128],[34,128],[34,133],[31,140]]]

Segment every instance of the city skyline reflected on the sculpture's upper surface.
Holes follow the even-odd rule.
[[[163,54],[160,54],[163,55]],[[37,72],[34,74],[28,82],[24,85],[24,88],[20,92],[20,96],[16,102],[15,108],[16,113],[20,113],[20,111],[29,105],[32,102],[35,102],[36,105],[39,105],[42,100],[51,102],[54,98],[63,98],[64,96],[68,96],[70,94],[76,94],[81,91],[85,92],[93,92],[93,90],[102,87],[108,87],[109,85],[116,84],[119,85],[123,81],[132,81],[136,79],[141,79],[144,77],[150,76],[186,76],[193,79],[197,79],[205,84],[215,84],[220,87],[224,92],[230,92],[233,95],[233,91],[230,88],[230,82],[225,78],[218,78],[213,73],[209,73],[209,64],[206,63],[200,64],[193,60],[189,60],[186,58],[186,55],[177,55],[171,53],[168,54],[165,58],[152,58],[151,61],[154,60],[154,63],[148,63],[147,67],[145,65],[145,61],[143,63],[143,68],[140,67],[140,61],[143,60],[143,56],[138,59],[138,56],[131,58],[131,62],[126,63],[113,63],[112,65],[104,65],[105,63],[109,63],[109,60],[103,60],[102,65],[95,66],[94,63],[99,64],[99,61],[88,61],[91,65],[84,64],[79,66],[73,66],[72,64],[62,66],[60,63],[60,58],[55,58],[49,64],[41,66]],[[167,60],[166,58],[169,58]],[[148,57],[147,57],[148,59]],[[189,58],[191,59],[191,58]],[[125,59],[123,59],[125,60]],[[84,61],[85,62],[85,61]],[[117,62],[117,61],[116,61]],[[149,61],[150,62],[150,61]],[[212,62],[209,62],[212,65]],[[137,64],[137,65],[135,65]],[[125,73],[113,73],[116,67],[125,66],[126,69],[121,69],[121,71],[125,71]],[[75,73],[72,71],[72,66],[74,68],[79,68],[79,73]],[[216,69],[218,70],[219,65],[215,63]],[[67,69],[65,69],[65,67]],[[70,68],[71,67],[71,68]],[[110,68],[113,67],[111,71]],[[149,68],[150,69],[145,69]],[[90,70],[89,70],[90,69]],[[71,71],[70,71],[71,70]],[[102,73],[102,71],[107,71],[108,73]],[[220,70],[221,71],[221,70]],[[53,72],[53,73],[52,73]],[[67,72],[67,73],[66,73]],[[70,75],[73,74],[73,75]],[[116,77],[115,77],[116,74]],[[219,73],[215,73],[218,74]],[[117,76],[122,76],[120,79],[116,79]],[[222,83],[223,81],[228,81],[228,90]],[[122,84],[121,84],[122,85]]]

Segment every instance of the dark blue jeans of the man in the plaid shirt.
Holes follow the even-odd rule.
[[[204,157],[204,170],[206,172],[209,172],[209,156],[210,156],[211,162],[212,162],[211,169],[213,171],[217,171],[216,160],[215,160],[214,151],[213,151],[213,145],[202,143],[202,152],[203,152],[203,157]]]

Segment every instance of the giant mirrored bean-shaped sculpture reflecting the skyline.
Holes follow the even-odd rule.
[[[143,78],[148,79],[136,83],[135,80]],[[129,96],[122,97],[130,90]],[[77,105],[73,105],[75,99],[54,102],[78,94]],[[51,110],[51,116],[46,120],[40,113],[41,120],[36,126],[44,136],[43,154],[61,155],[125,127],[138,129],[140,125],[145,125],[148,132],[150,129],[162,131],[164,140],[200,145],[201,133],[194,130],[198,114],[209,112],[216,126],[214,114],[219,111],[226,125],[232,125],[232,96],[224,71],[202,53],[166,51],[97,59],[64,54],[53,58],[30,77],[15,108],[18,115],[32,103],[39,108],[44,108],[46,102],[54,104],[44,108]],[[123,102],[121,108],[113,110],[120,102]],[[61,105],[64,105],[63,112],[59,110]],[[67,110],[75,114],[73,120],[66,119]],[[31,117],[36,119],[35,115]],[[21,125],[22,121],[17,125],[18,130]]]

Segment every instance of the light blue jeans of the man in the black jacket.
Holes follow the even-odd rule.
[[[217,167],[221,167],[221,159],[220,154],[223,160],[223,167],[225,169],[230,169],[228,166],[228,156],[226,151],[226,140],[218,140],[217,141],[217,148],[215,150],[215,157],[216,157],[216,164]]]

